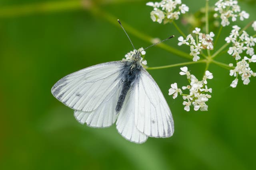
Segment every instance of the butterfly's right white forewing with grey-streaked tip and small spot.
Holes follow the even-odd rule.
[[[174,122],[170,108],[154,79],[142,69],[135,91],[135,124],[149,137],[170,137]]]

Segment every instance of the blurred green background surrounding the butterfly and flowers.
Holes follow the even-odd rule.
[[[178,74],[179,67],[149,70],[172,110],[175,133],[167,139],[149,138],[142,145],[126,141],[115,125],[106,129],[80,125],[72,109],[52,96],[51,87],[63,76],[121,60],[132,50],[116,19],[124,23],[137,48],[150,45],[144,41],[150,37],[176,35],[165,44],[188,52],[188,47],[178,47],[180,34],[172,24],[151,21],[152,8],[146,2],[0,0],[0,169],[256,169],[255,78],[248,86],[240,80],[232,89],[229,85],[234,78],[229,71],[211,64],[214,79],[208,81],[213,88],[209,111],[186,112],[182,98],[168,96],[171,83],[187,84]],[[190,7],[190,14],[198,14],[205,5],[204,0],[182,2]],[[211,0],[210,5],[215,2]],[[248,20],[236,22],[244,27],[255,20],[256,4],[255,0],[239,4],[250,14]],[[178,25],[188,34],[191,26],[180,21]],[[140,37],[132,27],[150,37]],[[217,49],[230,30],[231,26],[223,29]],[[255,34],[251,27],[248,33]],[[146,60],[148,66],[189,61],[158,47],[148,49]],[[232,61],[226,53],[217,60]],[[205,64],[188,68],[202,77]]]

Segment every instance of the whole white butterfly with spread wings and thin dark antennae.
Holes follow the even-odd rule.
[[[97,64],[69,74],[56,82],[51,92],[74,109],[74,117],[81,124],[109,127],[116,122],[118,132],[134,143],[144,143],[148,137],[171,137],[172,113],[142,66],[140,53],[136,51],[130,60]]]

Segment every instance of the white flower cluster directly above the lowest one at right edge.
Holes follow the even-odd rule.
[[[246,31],[242,31],[242,34],[239,34],[241,28],[237,25],[233,26],[233,29],[225,41],[227,43],[233,43],[232,47],[229,47],[228,54],[232,55],[236,60],[240,60],[244,51],[247,55],[254,55],[254,46],[256,43],[256,38],[249,36]]]

